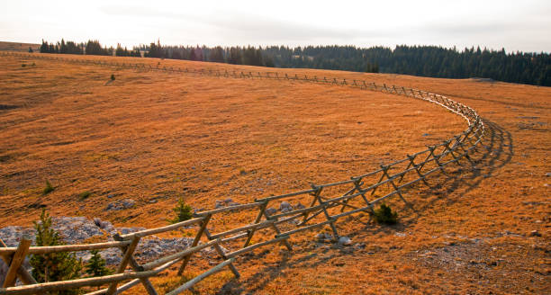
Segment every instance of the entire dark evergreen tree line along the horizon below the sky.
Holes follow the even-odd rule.
[[[84,50],[83,50],[84,49]],[[102,48],[97,40],[86,44],[64,40],[57,44],[42,41],[41,52],[140,56],[222,62],[261,67],[306,67],[369,73],[394,73],[447,78],[484,77],[498,81],[551,86],[549,53],[506,53],[504,49],[470,48],[457,50],[438,46],[396,46],[357,48],[355,46],[221,47],[166,46],[160,41],[132,50]]]

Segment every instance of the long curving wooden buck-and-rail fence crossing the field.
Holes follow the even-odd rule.
[[[374,210],[375,204],[389,198],[399,198],[406,206],[411,206],[407,201],[405,191],[413,185],[427,185],[427,178],[431,174],[438,172],[446,173],[447,165],[473,165],[473,154],[484,134],[484,124],[479,115],[470,107],[457,103],[444,95],[432,94],[418,89],[396,86],[380,85],[373,82],[368,83],[364,80],[347,80],[344,78],[328,78],[317,76],[290,76],[288,74],[278,73],[253,73],[236,72],[220,69],[189,69],[181,67],[151,67],[144,64],[119,63],[105,60],[92,60],[86,58],[60,58],[57,56],[20,54],[13,52],[4,52],[1,56],[20,57],[20,58],[41,58],[48,60],[59,60],[63,62],[96,65],[102,67],[123,67],[129,69],[141,69],[149,71],[159,71],[176,75],[201,75],[201,76],[220,76],[232,78],[254,78],[254,79],[272,79],[283,81],[301,81],[325,85],[344,85],[364,90],[378,91],[386,94],[404,95],[413,99],[436,103],[439,106],[454,112],[463,117],[468,127],[456,136],[447,139],[441,143],[429,146],[428,148],[408,155],[407,157],[389,163],[380,165],[374,171],[367,172],[349,179],[336,181],[334,183],[312,184],[299,192],[289,192],[281,195],[270,196],[256,199],[254,202],[240,204],[230,207],[224,207],[216,210],[206,210],[196,212],[194,219],[176,223],[162,228],[151,228],[128,235],[116,235],[115,241],[87,244],[87,245],[68,245],[68,246],[30,246],[31,241],[23,238],[17,247],[6,247],[0,243],[0,256],[5,263],[9,265],[8,273],[3,288],[0,288],[0,294],[35,294],[46,293],[48,291],[61,291],[75,288],[84,288],[90,286],[104,286],[99,291],[90,291],[87,294],[118,294],[129,290],[131,287],[142,284],[149,294],[158,294],[155,287],[149,282],[149,278],[158,276],[165,272],[171,266],[179,264],[178,275],[185,272],[185,267],[190,261],[192,255],[207,248],[213,249],[220,255],[221,263],[213,266],[205,273],[201,273],[192,280],[183,283],[167,294],[178,294],[188,290],[196,282],[200,282],[205,277],[220,271],[224,267],[229,267],[230,271],[239,277],[239,272],[235,267],[235,259],[239,255],[263,246],[272,244],[281,244],[289,251],[293,249],[289,237],[303,233],[314,228],[328,226],[335,239],[339,238],[339,231],[336,223],[339,219],[360,212],[370,212]],[[270,204],[281,204],[283,201],[303,201],[307,206],[302,208],[288,208],[281,212],[267,210]],[[212,217],[224,219],[233,211],[253,210],[256,212],[256,218],[251,219],[245,226],[234,227],[222,232],[210,232],[207,226]],[[231,221],[231,220],[228,220]],[[192,246],[183,251],[166,254],[162,257],[139,264],[134,257],[136,246],[140,238],[150,235],[174,231],[179,228],[195,228],[194,241]],[[212,228],[211,228],[212,229]],[[264,241],[253,242],[253,238],[260,231],[273,231],[273,238]],[[200,240],[206,237],[206,242]],[[266,237],[266,235],[262,236]],[[1,240],[0,240],[1,241]],[[222,247],[224,246],[224,248]],[[224,251],[225,247],[233,248],[233,251]],[[27,270],[22,266],[24,258],[27,255],[41,255],[56,252],[71,251],[90,251],[93,249],[118,248],[121,250],[122,261],[116,269],[116,273],[102,277],[83,278],[78,280],[64,282],[36,282]],[[129,269],[130,268],[130,269]],[[16,279],[23,283],[14,286]],[[91,288],[88,288],[92,290]]]

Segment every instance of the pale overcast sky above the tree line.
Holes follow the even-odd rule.
[[[551,51],[551,0],[4,1],[0,40]]]

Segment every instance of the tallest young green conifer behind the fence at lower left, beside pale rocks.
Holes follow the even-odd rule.
[[[41,220],[34,222],[36,246],[64,245],[59,233],[51,228],[50,214],[42,210]],[[82,270],[82,260],[69,252],[31,255],[32,276],[37,282],[56,282],[77,279]],[[52,291],[49,294],[78,294],[78,290]]]

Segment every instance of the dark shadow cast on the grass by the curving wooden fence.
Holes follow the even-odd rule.
[[[461,195],[466,192],[472,191],[474,188],[480,185],[485,178],[492,177],[498,169],[502,166],[510,163],[512,156],[514,155],[513,140],[510,132],[502,129],[499,125],[492,121],[484,120],[485,134],[481,144],[476,148],[476,151],[471,154],[470,159],[463,158],[458,165],[450,164],[444,169],[444,172],[437,177],[429,179],[430,186],[416,186],[409,190],[404,197],[413,204],[413,207],[403,207],[402,216],[408,220],[404,223],[393,226],[394,230],[401,231],[408,227],[408,224],[415,222],[424,210],[429,209],[436,205],[437,201],[446,201],[446,205],[453,204],[456,200],[448,199],[447,194],[456,192]],[[411,195],[417,194],[415,200]],[[434,196],[438,196],[434,198]],[[430,201],[423,201],[424,199],[430,199]],[[397,200],[396,200],[397,201]],[[366,225],[366,230],[369,233],[379,233],[387,231],[388,228],[376,227],[373,228],[370,222],[365,220],[357,221]],[[335,248],[333,247],[332,250]],[[321,264],[328,264],[333,258],[356,255],[355,247],[343,247],[339,248],[340,251],[333,251],[331,255],[324,255],[321,253],[314,253],[304,255],[300,258],[296,258],[298,254],[304,254],[309,251],[307,248],[296,249],[293,253],[285,253],[282,261],[276,266],[266,266],[262,269],[258,269],[257,273],[248,277],[245,281],[239,281],[232,279],[230,282],[224,284],[220,291],[216,294],[248,294],[249,292],[261,291],[266,287],[266,284],[275,280],[280,276],[285,269],[291,269],[294,267],[307,267],[315,268]],[[262,254],[254,255],[254,258],[260,258]],[[251,259],[252,260],[252,259]],[[247,287],[245,287],[247,286]],[[254,286],[254,287],[253,287]],[[250,289],[252,287],[252,289]]]

